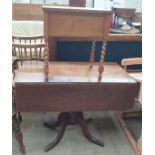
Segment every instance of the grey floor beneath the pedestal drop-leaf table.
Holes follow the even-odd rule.
[[[93,118],[89,124],[91,133],[104,141],[105,147],[90,143],[77,125],[67,127],[61,142],[48,153],[44,147],[56,136],[56,130],[43,127],[43,122],[54,122],[58,113],[23,113],[21,124],[27,155],[135,155],[113,112],[87,112],[85,118]],[[18,144],[13,137],[13,155],[19,155]]]

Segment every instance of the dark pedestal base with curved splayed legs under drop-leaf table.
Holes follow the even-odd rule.
[[[48,123],[44,123],[44,126],[47,128],[50,128],[50,129],[53,129],[55,127],[59,127],[57,137],[55,138],[55,140],[52,143],[50,143],[49,145],[47,145],[45,147],[45,151],[46,152],[49,151],[50,149],[55,147],[60,142],[61,138],[63,137],[64,131],[65,131],[67,125],[75,125],[75,124],[80,125],[85,137],[89,141],[91,141],[92,143],[95,143],[99,146],[104,146],[104,144],[102,142],[100,142],[99,140],[97,140],[96,138],[94,138],[90,134],[88,126],[87,126],[88,122],[90,122],[90,119],[88,119],[86,121],[83,117],[82,112],[62,112],[59,114],[58,120],[56,121],[55,124],[50,125]]]

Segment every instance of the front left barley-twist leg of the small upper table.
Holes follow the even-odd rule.
[[[49,50],[48,45],[45,47],[45,53],[44,53],[44,74],[45,74],[45,81],[48,81],[48,73],[49,73]]]

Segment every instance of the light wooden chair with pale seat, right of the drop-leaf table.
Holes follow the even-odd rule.
[[[128,66],[131,65],[142,65],[142,58],[125,58],[122,59],[121,62],[122,67],[129,73],[129,75],[134,78],[137,83],[139,84],[139,94],[137,95],[137,98],[135,99],[135,104],[134,107],[126,112],[117,112],[116,116],[133,148],[135,151],[136,155],[141,155],[141,137],[136,140],[133,135],[131,134],[130,130],[128,129],[125,121],[123,118],[131,118],[131,117],[141,117],[142,116],[142,108],[141,108],[141,83],[142,83],[142,71],[141,70],[131,70],[128,69]]]

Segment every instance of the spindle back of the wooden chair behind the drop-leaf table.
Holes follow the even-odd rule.
[[[21,64],[24,60],[43,60],[45,46],[43,36],[12,36],[12,54]]]

